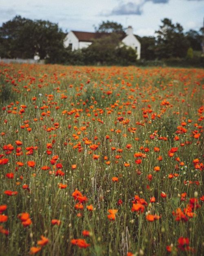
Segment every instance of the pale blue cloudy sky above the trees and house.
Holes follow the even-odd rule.
[[[16,15],[58,23],[64,32],[94,32],[94,25],[110,20],[131,25],[139,36],[154,36],[164,18],[185,32],[199,30],[204,0],[0,0],[0,26]]]

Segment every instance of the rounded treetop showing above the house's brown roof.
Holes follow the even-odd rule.
[[[98,27],[94,27],[95,32],[100,32],[100,33],[124,33],[124,28],[120,23],[114,22],[114,21],[102,21],[98,25]]]

